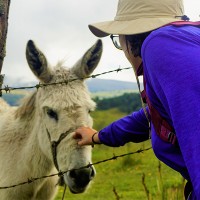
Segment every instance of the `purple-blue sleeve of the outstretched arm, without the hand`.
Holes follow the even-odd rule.
[[[128,142],[142,142],[149,138],[149,125],[144,110],[125,116],[99,132],[100,141],[112,147]]]

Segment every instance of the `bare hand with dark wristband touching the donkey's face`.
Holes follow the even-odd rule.
[[[80,146],[100,144],[98,132],[90,127],[79,127],[76,129],[73,138],[78,140]]]

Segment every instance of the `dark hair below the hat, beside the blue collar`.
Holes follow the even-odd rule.
[[[141,56],[141,48],[144,40],[151,32],[140,33],[136,35],[126,35],[126,41],[131,45],[131,52],[134,57]]]

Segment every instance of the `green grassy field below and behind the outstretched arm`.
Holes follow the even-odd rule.
[[[100,129],[124,114],[116,109],[94,112],[94,127]],[[93,162],[150,147],[150,141],[111,148],[97,145]],[[184,180],[155,158],[152,150],[95,165],[97,175],[84,194],[66,191],[66,200],[182,200]],[[61,200],[60,188],[55,200]]]

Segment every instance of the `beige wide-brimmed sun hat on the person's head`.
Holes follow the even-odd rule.
[[[90,24],[89,29],[97,37],[132,35],[180,21],[183,15],[182,0],[119,0],[113,21]]]

